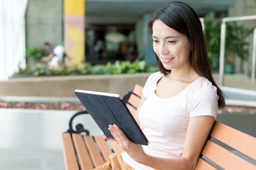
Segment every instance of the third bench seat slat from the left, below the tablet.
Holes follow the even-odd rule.
[[[103,160],[103,157],[99,153],[99,150],[96,147],[92,136],[83,135],[83,139],[84,139],[85,144],[86,144],[86,146],[88,148],[88,151],[90,153],[92,162],[94,164],[94,168],[104,164],[105,161]]]

